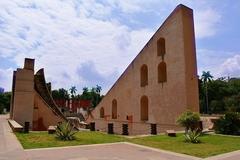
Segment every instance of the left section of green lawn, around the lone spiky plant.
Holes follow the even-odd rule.
[[[124,137],[101,132],[77,132],[75,140],[62,141],[55,134],[47,132],[15,133],[24,149],[63,147],[86,144],[113,143],[124,141]]]

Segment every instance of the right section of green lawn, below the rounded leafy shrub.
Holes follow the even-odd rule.
[[[221,135],[203,135],[200,137],[201,143],[199,144],[186,143],[183,134],[177,134],[177,137],[168,137],[165,135],[149,136],[134,138],[129,141],[201,158],[240,149],[240,137]]]

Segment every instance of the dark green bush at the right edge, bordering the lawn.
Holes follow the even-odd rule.
[[[215,122],[214,127],[216,133],[240,135],[240,114],[228,112]]]

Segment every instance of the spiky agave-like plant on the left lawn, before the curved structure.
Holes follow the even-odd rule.
[[[74,139],[74,127],[69,122],[63,122],[56,128],[56,135],[59,139],[69,141]]]

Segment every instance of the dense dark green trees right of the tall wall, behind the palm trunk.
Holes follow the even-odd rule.
[[[201,113],[206,113],[205,85],[199,83]],[[240,79],[220,77],[207,83],[208,111],[210,113],[240,112]]]

